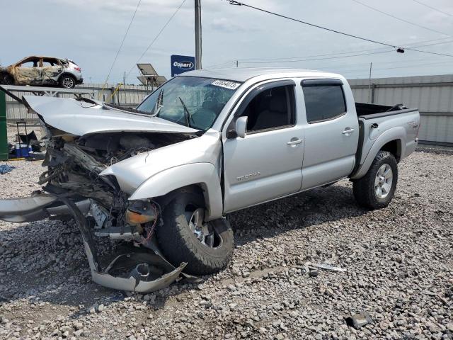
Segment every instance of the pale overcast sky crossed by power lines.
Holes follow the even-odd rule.
[[[414,0],[360,0],[425,27],[421,28],[354,0],[243,0],[352,35],[453,55],[453,1],[418,1],[446,14]],[[124,72],[132,69],[127,83],[137,83],[139,72],[134,65],[181,2],[142,0],[109,82],[122,81]],[[27,55],[67,57],[81,66],[86,82],[103,82],[138,0],[1,0],[1,3],[2,65]],[[239,67],[321,69],[357,79],[368,77],[372,62],[372,77],[453,73],[453,57],[408,50],[400,54],[389,47],[244,6],[231,6],[229,1],[201,0],[201,3],[204,68],[222,64],[235,67],[235,60],[239,60]],[[150,62],[159,74],[169,77],[170,55],[195,55],[193,6],[193,0],[185,1],[140,62]],[[299,61],[288,62],[283,58]]]

